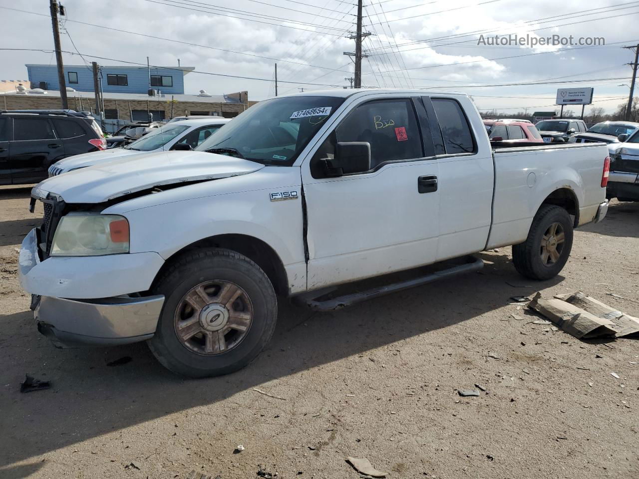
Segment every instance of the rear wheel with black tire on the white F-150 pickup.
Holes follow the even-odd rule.
[[[547,234],[552,232],[550,228],[553,225],[558,225],[555,229],[557,238],[560,238],[560,231],[563,232],[562,243],[555,236]],[[553,242],[557,243],[554,254]],[[545,251],[543,243],[546,243]],[[520,275],[534,280],[548,280],[564,268],[572,248],[573,222],[570,215],[560,206],[544,205],[533,218],[526,241],[513,245],[512,262]]]

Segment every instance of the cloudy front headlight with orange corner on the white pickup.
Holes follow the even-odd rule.
[[[70,213],[53,236],[51,256],[99,256],[128,253],[128,221],[117,215]]]

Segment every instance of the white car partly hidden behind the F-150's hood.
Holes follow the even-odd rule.
[[[64,158],[49,167],[49,177],[98,163],[119,160],[125,156],[135,158],[144,153],[196,148],[229,121],[231,121],[230,118],[221,117],[175,121],[153,130],[123,148],[93,151],[92,153]]]

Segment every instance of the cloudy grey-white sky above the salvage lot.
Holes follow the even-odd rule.
[[[203,72],[185,77],[185,93],[248,90],[250,100],[269,98],[274,63],[280,95],[300,87],[342,87],[352,77],[353,64],[343,52],[354,49],[348,36],[355,29],[355,0],[62,3],[63,50],[102,65],[146,64],[149,56],[151,65],[173,66],[179,58],[182,66]],[[0,8],[0,48],[48,50],[0,50],[0,79],[25,79],[26,63],[55,64],[48,4],[0,0],[0,7],[38,14]],[[463,91],[481,110],[513,113],[552,109],[558,87],[592,86],[593,106],[613,110],[629,91],[620,85],[630,82],[631,68],[624,64],[633,61],[633,52],[621,47],[639,43],[637,13],[639,1],[627,0],[366,0],[364,29],[371,36],[364,40],[369,57],[362,83]],[[478,45],[480,33],[603,37],[606,45]],[[66,64],[82,63],[77,54],[63,57]]]

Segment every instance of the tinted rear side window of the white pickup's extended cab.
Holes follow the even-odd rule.
[[[475,150],[473,135],[459,103],[445,98],[433,98],[433,108],[442,128],[446,153],[472,153]]]

